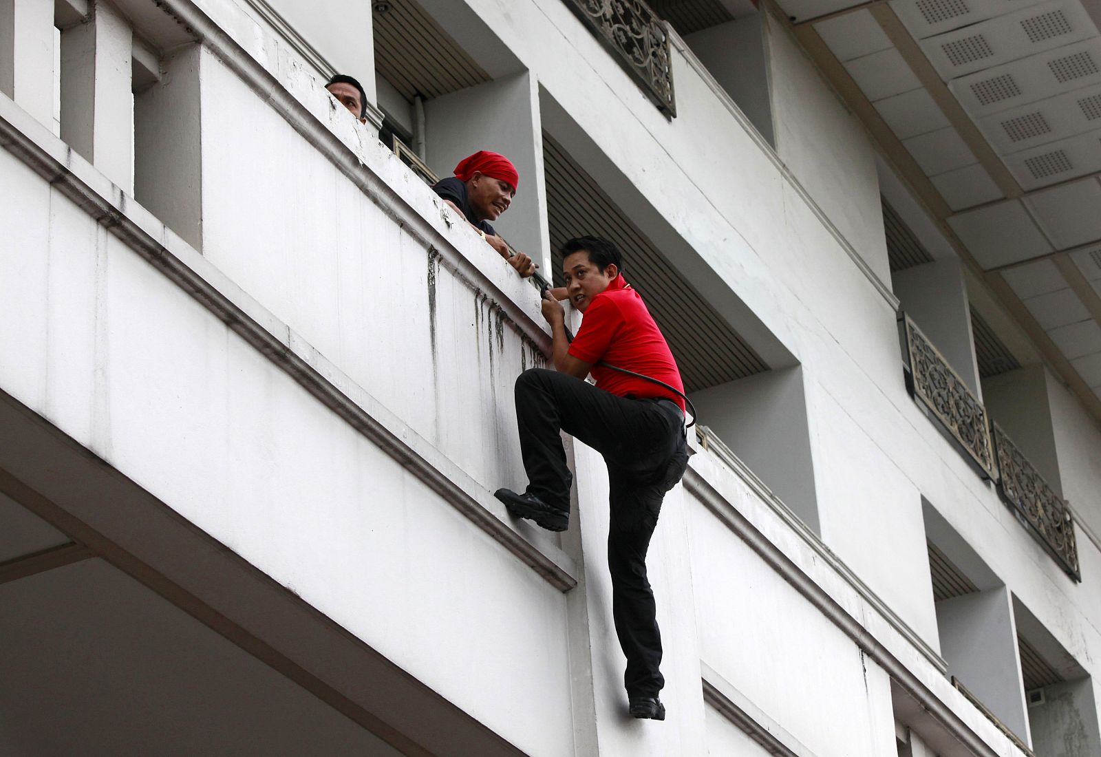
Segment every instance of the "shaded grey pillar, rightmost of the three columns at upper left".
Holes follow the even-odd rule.
[[[197,250],[203,244],[198,43],[134,96],[134,198]]]

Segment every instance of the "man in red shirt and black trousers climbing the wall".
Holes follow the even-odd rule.
[[[680,372],[642,297],[623,279],[619,250],[598,237],[563,245],[566,292],[585,314],[570,343],[563,306],[544,295],[557,371],[531,369],[516,380],[520,448],[530,485],[495,492],[509,512],[543,528],[569,525],[573,474],[559,430],[600,452],[608,464],[608,567],[612,617],[626,656],[623,677],[634,717],[665,720],[657,694],[662,637],[646,580],[646,549],[665,493],[688,462],[684,401],[675,392],[612,365],[684,391]],[[597,385],[585,382],[592,373]]]

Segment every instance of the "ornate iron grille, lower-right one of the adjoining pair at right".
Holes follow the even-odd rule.
[[[994,424],[994,449],[1002,474],[998,484],[999,494],[1024,517],[1033,534],[1064,570],[1081,581],[1075,522],[1067,503],[1059,498],[998,424]]]

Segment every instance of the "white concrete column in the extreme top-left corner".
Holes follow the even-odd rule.
[[[53,0],[0,0],[0,91],[46,127],[54,120]]]

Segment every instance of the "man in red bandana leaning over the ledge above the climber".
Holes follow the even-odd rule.
[[[509,209],[516,196],[520,174],[501,153],[479,150],[455,166],[455,176],[440,179],[433,189],[459,212],[486,242],[497,250],[521,276],[538,267],[528,255],[512,250],[489,224]]]

